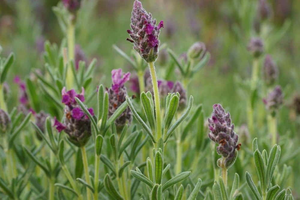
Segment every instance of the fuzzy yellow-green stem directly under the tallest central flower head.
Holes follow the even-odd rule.
[[[159,102],[158,84],[156,79],[155,67],[153,62],[149,62],[149,68],[152,78],[154,102],[155,102],[155,115],[156,115],[156,141],[161,138],[161,107]]]

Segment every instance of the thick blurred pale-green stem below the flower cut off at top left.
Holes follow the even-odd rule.
[[[68,23],[67,26],[67,44],[68,44],[68,61],[74,59],[75,55],[75,24],[72,20]],[[67,88],[73,87],[74,77],[72,73],[71,66],[67,69]]]

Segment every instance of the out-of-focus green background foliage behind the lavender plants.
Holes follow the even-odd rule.
[[[18,104],[18,85],[13,83],[13,77],[19,75],[25,79],[33,76],[32,71],[35,69],[44,71],[44,41],[59,45],[64,37],[52,11],[58,2],[0,0],[1,55],[6,57],[14,52],[16,57],[7,79],[12,91],[7,101],[10,109]],[[277,63],[280,71],[278,84],[283,87],[285,95],[278,119],[278,132],[283,139],[292,138],[285,146],[295,148],[289,151],[298,154],[292,161],[280,158],[280,169],[284,162],[292,165],[295,175],[292,177],[295,184],[293,189],[296,192],[296,188],[300,187],[297,146],[300,141],[300,123],[299,118],[291,114],[289,105],[293,95],[300,92],[300,1],[268,2],[271,5],[271,16],[264,22],[258,17],[258,1],[152,0],[143,1],[143,6],[151,10],[158,21],[164,20],[161,44],[166,43],[177,55],[186,52],[195,41],[205,43],[211,59],[193,77],[188,93],[193,94],[195,103],[203,104],[205,116],[210,115],[214,103],[221,103],[230,111],[236,126],[246,123],[245,98],[239,93],[236,77],[244,80],[251,76],[252,56],[247,51],[247,44],[251,37],[256,36],[266,42],[265,54],[270,54]],[[82,48],[88,61],[98,59],[93,80],[95,88],[100,80],[110,87],[110,71],[114,68],[133,71],[112,47],[116,44],[128,54],[132,50],[132,45],[126,41],[132,4],[131,0],[84,0],[82,3],[76,24],[76,44]],[[276,36],[278,41],[274,39]],[[276,43],[268,43],[272,37]],[[260,69],[264,58],[265,55],[260,58]],[[159,78],[165,78],[166,69],[159,65],[157,67]],[[261,72],[259,74],[261,77]],[[178,76],[175,70],[169,77],[175,81]],[[258,112],[264,112],[261,97],[257,108]],[[265,124],[263,121],[259,123]],[[262,126],[256,136],[264,135],[265,130]],[[287,152],[282,148],[282,155]]]

